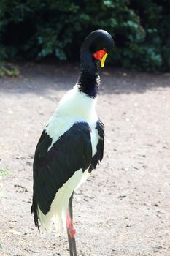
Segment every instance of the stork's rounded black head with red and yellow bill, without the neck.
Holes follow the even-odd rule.
[[[114,41],[107,31],[98,29],[91,32],[88,37],[85,38],[80,50],[82,67],[89,69],[92,62],[97,70],[100,69],[100,67],[104,67],[107,55],[113,47]]]

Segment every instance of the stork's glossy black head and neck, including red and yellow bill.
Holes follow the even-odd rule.
[[[81,72],[77,81],[81,92],[95,98],[100,83],[98,72],[104,67],[104,61],[114,46],[113,39],[107,31],[91,32],[80,50]]]

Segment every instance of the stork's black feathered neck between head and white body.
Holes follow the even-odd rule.
[[[100,77],[98,69],[93,62],[91,53],[82,48],[80,51],[81,72],[80,78],[77,81],[79,90],[85,93],[88,97],[95,98],[98,94],[98,86]]]

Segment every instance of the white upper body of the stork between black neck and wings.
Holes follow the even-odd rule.
[[[63,99],[58,104],[58,108],[50,118],[50,121],[45,128],[50,138],[53,138],[51,146],[58,138],[61,137],[68,129],[70,129],[76,122],[85,121],[89,124],[92,130],[92,143],[95,143],[95,133],[93,129],[96,128],[96,99],[88,97],[86,94],[79,91],[77,85],[68,91]],[[50,148],[51,148],[50,146]],[[48,150],[50,150],[48,148]]]

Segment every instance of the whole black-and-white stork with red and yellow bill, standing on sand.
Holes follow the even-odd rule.
[[[102,29],[90,32],[80,48],[80,75],[64,94],[36,146],[31,213],[35,226],[66,230],[70,256],[77,256],[72,200],[104,155],[104,124],[96,113],[99,72],[114,48]]]

